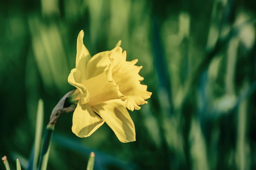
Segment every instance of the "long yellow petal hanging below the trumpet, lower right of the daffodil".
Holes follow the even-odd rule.
[[[92,109],[103,118],[121,142],[135,141],[135,126],[126,109],[126,103],[120,99],[109,100]]]

